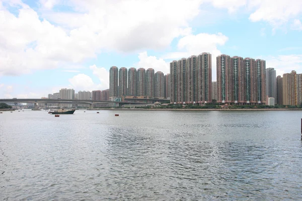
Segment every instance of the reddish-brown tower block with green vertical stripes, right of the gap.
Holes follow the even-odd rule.
[[[262,59],[219,55],[217,103],[266,105],[266,68]]]

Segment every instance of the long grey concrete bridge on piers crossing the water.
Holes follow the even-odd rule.
[[[17,105],[18,103],[30,103],[35,104],[35,108],[38,107],[38,104],[44,104],[45,108],[47,108],[47,104],[73,104],[77,107],[80,104],[88,104],[89,108],[93,108],[94,105],[110,103],[112,107],[118,107],[119,105],[124,104],[141,104],[134,102],[113,102],[110,100],[78,100],[78,99],[42,99],[42,98],[12,98],[12,99],[0,99],[0,103],[14,103]]]

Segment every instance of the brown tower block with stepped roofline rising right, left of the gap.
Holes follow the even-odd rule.
[[[170,63],[171,104],[211,103],[212,56],[204,52]]]

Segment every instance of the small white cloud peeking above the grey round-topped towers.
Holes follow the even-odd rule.
[[[156,56],[148,56],[147,52],[138,54],[139,61],[135,64],[136,68],[153,68],[155,72],[162,71],[164,74],[170,73],[170,65],[164,59]]]

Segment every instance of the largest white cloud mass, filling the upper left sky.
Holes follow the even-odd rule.
[[[22,1],[7,2],[20,9],[17,17],[6,8],[0,10],[0,76],[81,63],[102,50],[166,48],[174,38],[191,33],[188,22],[198,15],[201,4],[200,0],[190,4],[185,0],[41,0],[41,15],[47,20],[40,20]],[[75,13],[54,12],[57,4],[70,6]]]

